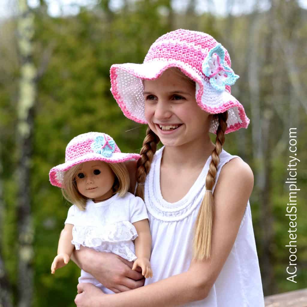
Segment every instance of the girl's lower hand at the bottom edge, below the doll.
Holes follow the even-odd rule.
[[[77,286],[78,294],[75,298],[77,307],[104,307],[107,303],[108,294],[90,283],[80,283]]]

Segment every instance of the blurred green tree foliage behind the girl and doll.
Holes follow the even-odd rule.
[[[34,123],[34,149],[30,161],[32,212],[35,228],[35,289],[33,306],[74,306],[73,299],[76,295],[76,285],[80,269],[70,262],[66,267],[50,274],[51,262],[56,255],[58,238],[64,226],[68,204],[59,188],[49,183],[48,173],[51,167],[63,163],[65,147],[76,135],[89,131],[103,131],[114,137],[122,151],[139,152],[145,135],[145,126],[126,119],[115,102],[110,91],[109,69],[115,63],[142,63],[144,56],[160,35],[177,28],[189,28],[210,33],[216,37],[230,52],[232,67],[240,75],[239,81],[233,86],[232,93],[243,103],[247,115],[251,118],[250,87],[248,84],[249,72],[249,29],[252,15],[238,17],[216,17],[209,13],[195,14],[191,5],[187,13],[174,12],[168,0],[143,0],[133,4],[124,1],[124,6],[118,11],[110,10],[108,1],[100,1],[92,10],[82,8],[76,16],[52,18],[47,14],[44,1],[35,13],[35,54],[34,60],[39,72],[37,78],[37,101]],[[282,3],[282,2],[281,2]],[[279,6],[276,14],[279,18],[275,29],[278,37],[285,41],[293,38],[295,48],[294,63],[300,68],[298,76],[300,85],[306,84],[307,57],[300,52],[306,50],[306,21],[305,10],[295,6],[295,2],[287,2],[288,7]],[[290,10],[290,8],[292,9]],[[295,16],[302,21],[293,21],[291,16],[283,18],[284,12],[295,12]],[[266,14],[271,14],[266,12]],[[304,286],[306,280],[306,246],[305,239],[307,223],[303,219],[303,200],[306,199],[307,173],[303,157],[306,153],[307,133],[306,111],[293,90],[289,67],[282,59],[287,56],[280,45],[267,53],[264,42],[269,43],[272,28],[267,25],[267,17],[259,17],[257,59],[260,82],[261,112],[266,107],[268,111],[261,113],[261,119],[271,116],[270,142],[274,151],[270,155],[272,169],[269,172],[271,183],[270,198],[268,203],[261,203],[261,190],[255,186],[251,196],[251,210],[256,236],[259,260],[263,257],[262,244],[265,234],[260,224],[261,206],[272,209],[273,244],[271,257],[273,259],[273,278],[275,286],[265,289],[266,294],[296,290]],[[289,13],[290,14],[290,13]],[[294,14],[294,13],[293,13]],[[293,16],[292,16],[293,17]],[[231,19],[232,18],[232,19]],[[277,18],[277,19],[278,19]],[[306,23],[305,23],[306,24]],[[0,135],[1,135],[1,164],[3,172],[4,217],[1,231],[2,251],[6,271],[13,285],[13,294],[16,300],[17,284],[17,225],[16,225],[16,152],[15,152],[15,127],[16,103],[18,88],[18,60],[16,40],[14,36],[14,19],[6,23],[6,35],[1,32],[0,44]],[[226,30],[225,30],[226,29]],[[291,32],[290,29],[293,29]],[[282,34],[281,34],[282,33]],[[256,38],[255,38],[256,39]],[[297,47],[300,46],[301,47]],[[228,47],[229,46],[229,47]],[[268,55],[274,56],[266,59]],[[281,59],[281,60],[278,60]],[[280,66],[276,65],[280,63]],[[274,66],[275,65],[275,66]],[[301,66],[302,65],[302,66]],[[278,71],[278,92],[274,92],[270,80],[274,72]],[[3,71],[3,73],[2,73]],[[291,75],[293,76],[293,75]],[[299,87],[303,88],[303,87]],[[306,89],[305,89],[306,91]],[[301,98],[302,99],[302,98]],[[306,101],[305,101],[306,103]],[[286,165],[289,152],[288,139],[284,135],[288,114],[293,115],[291,106],[296,105],[295,111],[298,127],[298,153],[301,157],[300,170],[297,181],[301,192],[297,199],[299,225],[298,278],[297,284],[286,281],[286,266],[289,262],[287,249],[284,247],[289,240],[288,220],[285,216],[288,201]],[[269,107],[268,107],[269,106]],[[292,112],[292,113],[291,113]],[[291,118],[294,118],[291,115]],[[251,118],[252,120],[252,118]],[[259,122],[258,125],[263,125]],[[255,177],[262,162],[255,157],[255,148],[251,142],[251,125],[248,130],[241,129],[236,134],[227,134],[224,148],[233,154],[238,154],[251,165]],[[212,136],[212,140],[215,138]],[[262,278],[266,278],[266,271],[262,271]]]

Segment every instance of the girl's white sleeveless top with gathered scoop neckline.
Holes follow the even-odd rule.
[[[153,242],[150,258],[153,278],[146,278],[145,285],[188,270],[192,260],[193,225],[204,196],[205,178],[212,160],[210,156],[188,193],[181,200],[169,203],[163,199],[160,189],[160,163],[163,148],[154,155],[145,181],[145,204]],[[216,182],[222,166],[235,157],[238,156],[222,150]],[[232,250],[208,296],[204,300],[185,306],[264,306],[249,201]]]

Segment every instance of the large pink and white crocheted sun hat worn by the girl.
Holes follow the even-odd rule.
[[[178,29],[159,37],[150,47],[143,64],[125,63],[111,66],[111,91],[124,115],[135,122],[147,123],[144,115],[142,79],[157,79],[170,67],[179,68],[196,82],[196,101],[208,113],[228,111],[229,133],[247,128],[244,108],[230,93],[235,75],[227,50],[212,36]],[[210,132],[216,133],[217,120]]]

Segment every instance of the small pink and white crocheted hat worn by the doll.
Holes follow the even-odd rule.
[[[53,167],[49,172],[52,185],[62,187],[64,173],[74,165],[99,160],[107,163],[119,163],[138,160],[137,153],[122,153],[113,138],[106,133],[88,132],[73,138],[65,150],[65,163]]]

